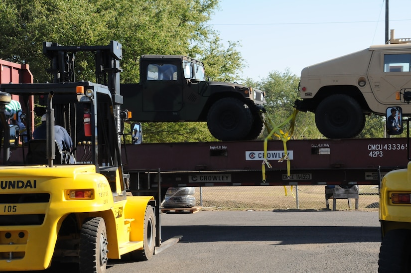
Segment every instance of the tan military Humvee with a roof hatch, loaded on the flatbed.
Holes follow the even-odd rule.
[[[315,113],[318,130],[329,138],[350,138],[364,129],[365,115],[386,115],[399,106],[411,115],[411,38],[305,67],[299,86],[300,111]]]

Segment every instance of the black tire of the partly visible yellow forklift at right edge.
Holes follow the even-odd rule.
[[[378,260],[379,273],[411,272],[411,230],[397,229],[384,236]]]

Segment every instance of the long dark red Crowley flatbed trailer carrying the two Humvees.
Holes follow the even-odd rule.
[[[185,186],[379,185],[388,171],[404,168],[407,138],[289,140],[287,175],[280,140],[143,143],[127,145],[130,190],[161,192]],[[123,153],[125,154],[125,153]]]

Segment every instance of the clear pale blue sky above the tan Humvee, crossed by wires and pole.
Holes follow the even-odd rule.
[[[385,0],[220,0],[210,24],[246,61],[243,78],[300,76],[309,65],[385,43]],[[411,38],[411,0],[389,0],[389,29]]]

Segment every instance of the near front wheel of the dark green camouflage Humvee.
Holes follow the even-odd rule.
[[[236,98],[220,99],[208,111],[208,130],[215,138],[223,141],[244,140],[252,123],[250,108]]]

